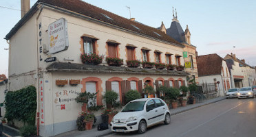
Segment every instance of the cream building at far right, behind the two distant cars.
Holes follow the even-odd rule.
[[[256,85],[255,67],[246,64],[245,60],[239,60],[233,53],[227,54],[224,60],[226,60],[228,71],[231,73],[232,88]]]

